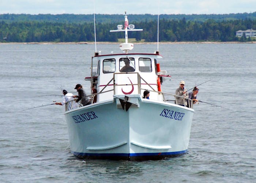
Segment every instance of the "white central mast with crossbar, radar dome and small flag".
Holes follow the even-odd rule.
[[[133,49],[133,44],[128,43],[128,31],[143,31],[143,29],[134,29],[133,24],[129,25],[127,15],[126,15],[126,11],[124,13],[125,13],[125,15],[124,15],[124,29],[123,29],[123,25],[117,25],[117,30],[110,30],[109,32],[125,31],[125,43],[120,44],[119,48],[121,50],[123,50],[125,53],[128,53],[128,51]]]

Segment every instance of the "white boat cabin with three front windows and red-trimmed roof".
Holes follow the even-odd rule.
[[[143,97],[145,90],[160,91],[157,59],[159,54],[131,53],[113,55],[95,55],[97,73],[93,72],[92,87],[97,90],[97,102],[113,100],[113,95],[139,94]],[[104,92],[104,93],[102,93]],[[95,92],[94,92],[95,93]],[[162,100],[162,94],[150,92],[150,99]]]

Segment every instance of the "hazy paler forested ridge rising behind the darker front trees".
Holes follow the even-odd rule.
[[[141,21],[151,21],[157,20],[158,15],[151,14],[143,14],[143,15],[133,15],[128,14],[128,19],[133,22],[141,22]],[[204,22],[208,19],[213,19],[216,21],[223,20],[245,20],[245,19],[256,19],[256,12],[253,13],[231,13],[231,14],[178,14],[178,15],[159,15],[159,19],[165,20],[182,20],[186,19],[187,21],[197,21]],[[95,19],[98,23],[118,23],[124,21],[124,15],[105,15],[105,14],[96,14]],[[60,14],[60,15],[52,15],[52,14],[38,14],[38,15],[30,15],[30,14],[0,14],[0,21],[3,20],[5,22],[14,22],[14,21],[40,21],[40,22],[53,22],[53,23],[93,23],[94,15],[75,15],[75,14]]]

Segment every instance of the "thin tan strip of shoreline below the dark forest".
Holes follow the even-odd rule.
[[[157,42],[132,42],[133,44],[157,44]],[[256,41],[248,41],[248,42],[239,42],[239,41],[227,41],[227,42],[219,42],[219,41],[181,41],[181,42],[159,42],[159,44],[254,44]],[[0,43],[0,44],[95,44],[95,42],[31,42],[31,43]],[[97,42],[97,44],[121,44],[121,42]]]

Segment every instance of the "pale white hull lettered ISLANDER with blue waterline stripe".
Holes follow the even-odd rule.
[[[185,154],[194,110],[126,95],[67,111],[70,148],[85,159],[158,160]]]

